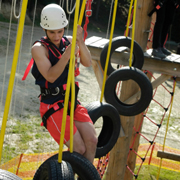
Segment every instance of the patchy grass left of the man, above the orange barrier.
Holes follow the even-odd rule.
[[[21,153],[52,152],[57,144],[49,132],[40,126],[40,116],[23,116],[21,119],[10,117],[7,123],[1,163],[5,163]]]

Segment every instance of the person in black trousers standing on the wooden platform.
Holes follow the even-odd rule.
[[[153,56],[165,58],[171,55],[171,52],[165,48],[165,41],[177,7],[176,0],[155,0],[156,22],[152,43]]]

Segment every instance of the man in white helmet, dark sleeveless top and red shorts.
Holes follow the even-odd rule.
[[[32,75],[36,85],[40,86],[40,114],[44,125],[54,140],[59,144],[64,109],[64,98],[69,71],[69,59],[73,37],[64,36],[68,25],[64,10],[57,4],[49,4],[42,9],[41,27],[46,36],[36,41],[31,54],[34,59]],[[83,40],[83,29],[78,25],[75,54],[80,53],[80,63],[91,66],[91,54]],[[82,154],[93,163],[97,136],[87,110],[77,100],[76,84],[74,110],[73,150]],[[68,109],[71,102],[69,98]],[[66,118],[64,144],[70,147],[70,115]]]

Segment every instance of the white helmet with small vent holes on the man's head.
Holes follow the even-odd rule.
[[[49,4],[41,12],[40,25],[47,30],[62,29],[68,25],[68,20],[61,6]]]

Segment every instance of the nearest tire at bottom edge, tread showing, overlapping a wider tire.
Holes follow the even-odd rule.
[[[57,160],[51,159],[39,170],[37,178],[39,180],[74,180],[74,174],[68,162],[58,163]]]

